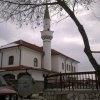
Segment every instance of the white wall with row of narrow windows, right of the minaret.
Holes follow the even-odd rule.
[[[62,63],[64,64],[64,69],[62,69]],[[68,70],[67,70],[67,65],[68,65]],[[52,70],[53,71],[57,71],[57,72],[61,72],[61,73],[72,72],[72,70],[71,70],[72,66],[73,66],[73,68],[75,67],[75,71],[77,72],[78,71],[78,63],[76,61],[74,61],[70,58],[67,58],[63,55],[52,56]]]

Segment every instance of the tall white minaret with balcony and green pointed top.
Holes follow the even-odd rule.
[[[51,40],[53,38],[53,31],[50,30],[50,16],[48,6],[46,5],[44,13],[44,27],[41,31],[41,38],[43,40],[43,68],[51,70]]]

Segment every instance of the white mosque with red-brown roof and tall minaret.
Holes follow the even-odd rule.
[[[51,49],[53,31],[50,29],[48,7],[44,14],[44,28],[41,31],[43,47],[18,40],[0,47],[0,74],[6,77],[18,75],[27,70],[34,80],[43,81],[43,74],[78,71],[78,61]]]

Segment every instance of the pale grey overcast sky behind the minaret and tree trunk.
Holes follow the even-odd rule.
[[[93,10],[81,10],[77,17],[86,30],[91,50],[100,51],[100,2],[94,5]],[[70,18],[59,23],[55,23],[54,20],[52,22],[54,23],[51,24],[51,30],[54,31],[52,48],[79,61],[79,71],[93,70],[84,53],[84,44],[74,22]],[[33,30],[28,26],[19,28],[11,22],[0,23],[0,46],[19,39],[42,46],[40,33],[42,29],[42,26]],[[100,54],[94,56],[100,63]]]

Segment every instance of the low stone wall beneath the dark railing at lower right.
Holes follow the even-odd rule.
[[[100,100],[100,90],[45,90],[47,100]]]

